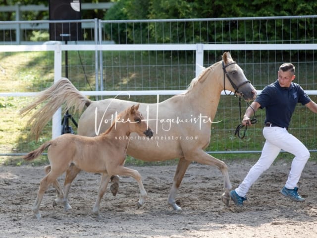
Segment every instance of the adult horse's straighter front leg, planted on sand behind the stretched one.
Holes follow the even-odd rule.
[[[175,172],[175,176],[174,176],[174,181],[173,181],[173,185],[172,188],[170,190],[169,196],[168,196],[168,204],[175,210],[175,211],[181,211],[182,208],[179,207],[176,204],[175,201],[175,196],[176,196],[176,192],[180,186],[180,183],[183,180],[183,177],[185,175],[185,172],[188,168],[188,166],[190,165],[191,161],[185,160],[185,158],[180,158],[178,161],[178,165],[177,165],[177,169]]]

